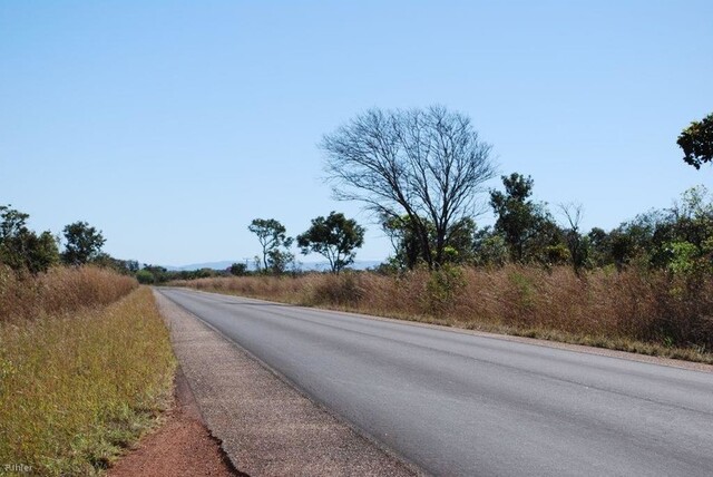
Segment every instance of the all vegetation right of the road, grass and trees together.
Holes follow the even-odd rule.
[[[711,162],[712,118],[678,137],[684,160],[696,168]],[[340,263],[333,273],[270,266],[276,262],[263,246],[264,266],[223,272],[248,276],[173,283],[713,362],[713,201],[705,187],[612,230],[584,231],[584,207],[536,201],[530,176],[504,175],[501,187],[485,191],[495,176],[490,146],[466,116],[443,107],[372,109],[325,135],[321,147],[334,196],[364,204],[391,240],[387,262],[343,271],[363,231],[353,223],[358,240],[339,240],[346,228],[318,217],[296,240],[303,253],[340,251],[331,255],[338,259],[330,264]],[[491,226],[476,222],[480,194]],[[275,237],[276,255],[289,255],[284,226],[256,221],[274,225],[263,236]],[[312,233],[316,225],[319,234]]]

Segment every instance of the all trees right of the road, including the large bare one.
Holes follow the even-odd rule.
[[[712,162],[713,115],[683,129],[677,144],[687,164],[701,168]],[[505,175],[501,189],[485,191],[496,175],[491,146],[467,116],[442,106],[370,109],[325,135],[320,146],[334,197],[361,202],[391,241],[393,253],[382,271],[452,263],[568,264],[576,273],[633,264],[713,269],[713,204],[703,186],[685,192],[671,208],[649,211],[611,231],[585,232],[584,207],[558,204],[553,213],[533,198],[530,176]],[[496,222],[479,228],[475,217],[481,193]],[[285,227],[274,218],[256,218],[248,228],[262,246],[258,269],[284,272],[294,261],[294,238]],[[332,212],[313,220],[296,242],[302,253],[322,254],[339,273],[363,244],[363,227]]]

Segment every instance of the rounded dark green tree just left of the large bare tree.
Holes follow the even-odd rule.
[[[364,244],[364,227],[344,214],[331,212],[328,217],[312,220],[312,226],[297,235],[297,245],[303,254],[315,252],[323,255],[333,273],[354,262],[355,249]]]

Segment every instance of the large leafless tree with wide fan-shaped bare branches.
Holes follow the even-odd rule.
[[[450,228],[475,213],[496,173],[491,146],[470,119],[441,106],[368,110],[324,136],[321,147],[334,196],[361,201],[380,217],[407,215],[430,267],[443,262]]]

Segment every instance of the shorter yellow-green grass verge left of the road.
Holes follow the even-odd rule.
[[[26,303],[41,315],[0,322],[0,465],[38,475],[100,473],[168,403],[175,363],[152,292],[97,304],[123,286],[116,279],[74,312]]]

